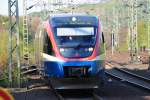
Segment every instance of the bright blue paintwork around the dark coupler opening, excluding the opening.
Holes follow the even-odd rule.
[[[70,62],[58,62],[58,61],[44,61],[44,71],[48,77],[64,77],[63,66],[87,66],[90,67],[88,73],[97,74],[102,71],[103,61],[70,61]]]

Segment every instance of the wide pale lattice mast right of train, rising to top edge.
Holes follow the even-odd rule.
[[[130,47],[130,57],[131,57],[131,63],[138,63],[138,42],[137,42],[137,0],[129,0],[128,1],[128,17],[129,17],[129,23],[128,27],[129,30],[129,47]]]

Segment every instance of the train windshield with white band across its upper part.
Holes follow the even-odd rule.
[[[96,31],[95,27],[57,27],[56,42],[60,47],[92,46]]]

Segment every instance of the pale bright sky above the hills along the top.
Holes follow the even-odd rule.
[[[2,0],[1,0],[2,1]],[[39,0],[28,0],[28,6],[35,4],[37,1]],[[48,0],[40,0],[40,1],[48,1]],[[53,0],[55,1],[55,0]],[[62,0],[63,2],[68,2],[70,0]],[[87,2],[87,0],[73,0],[76,3],[83,3],[83,2]],[[89,2],[92,1],[100,1],[100,0],[88,0]],[[19,15],[23,15],[23,0],[18,0],[18,6],[19,6]],[[34,7],[30,10],[30,12],[32,11],[36,11],[37,9],[39,9],[38,7]],[[3,0],[0,3],[0,14],[1,15],[6,15],[8,16],[8,0]]]

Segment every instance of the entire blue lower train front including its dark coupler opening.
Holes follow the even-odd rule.
[[[96,61],[44,61],[44,73],[47,77],[51,78],[64,78],[69,75],[77,75],[82,77],[82,73],[85,72],[89,77],[97,75],[104,71],[103,60]],[[83,69],[82,69],[83,68]],[[84,70],[85,69],[85,70]],[[73,74],[69,74],[70,70]]]

